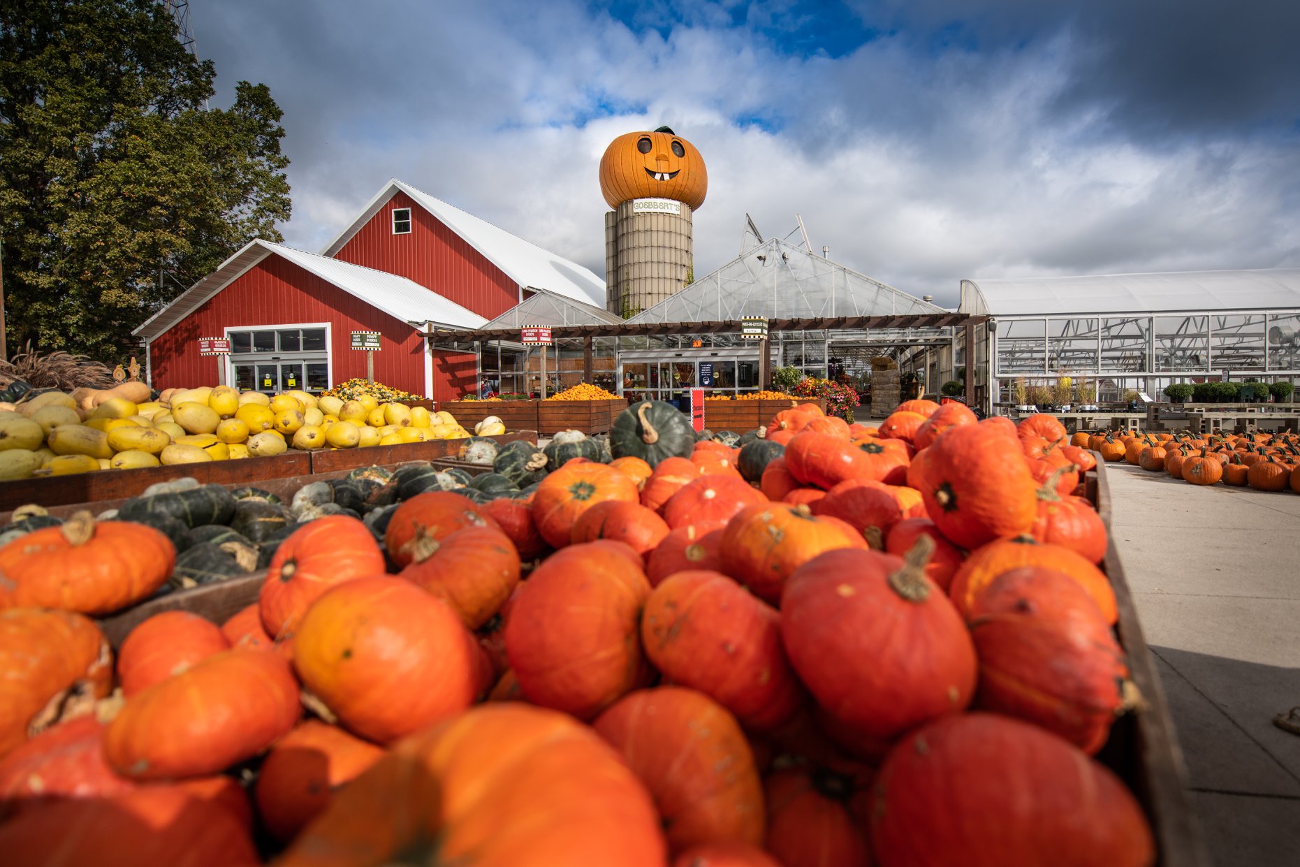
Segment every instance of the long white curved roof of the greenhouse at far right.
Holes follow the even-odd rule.
[[[1058,316],[1300,308],[1300,268],[963,279],[958,311]]]

